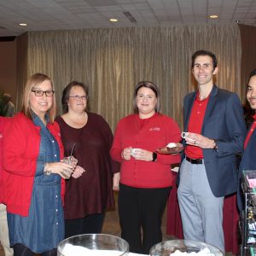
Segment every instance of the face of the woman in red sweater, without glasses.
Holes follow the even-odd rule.
[[[136,104],[138,113],[143,118],[149,118],[154,115],[157,97],[154,90],[147,87],[141,87],[137,91]]]

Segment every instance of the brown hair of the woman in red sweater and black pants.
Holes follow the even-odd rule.
[[[134,96],[133,96],[133,110],[134,113],[138,113],[137,103],[136,103],[136,97],[137,97],[137,91],[140,90],[142,87],[149,88],[154,91],[154,94],[157,98],[157,103],[155,106],[155,112],[160,113],[160,90],[158,89],[157,85],[149,82],[149,81],[141,81],[139,82],[134,90]]]

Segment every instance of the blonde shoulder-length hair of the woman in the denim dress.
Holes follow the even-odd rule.
[[[35,73],[26,81],[26,85],[23,91],[22,97],[22,105],[21,105],[21,113],[24,113],[26,117],[32,119],[32,109],[30,108],[29,96],[31,91],[35,86],[42,84],[44,81],[49,80],[52,90],[54,89],[54,84],[52,83],[51,79],[43,73]],[[56,101],[55,101],[55,94],[53,95],[53,103],[52,106],[48,110],[49,113],[49,122],[53,123],[55,120],[56,115]]]

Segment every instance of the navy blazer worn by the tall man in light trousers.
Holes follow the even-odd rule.
[[[195,97],[196,91],[185,96],[183,101],[184,131],[188,131],[189,117]],[[230,195],[237,191],[236,154],[242,151],[246,131],[243,110],[238,96],[213,85],[201,135],[215,139],[218,145],[218,150],[203,149],[207,178],[212,193],[216,197]]]

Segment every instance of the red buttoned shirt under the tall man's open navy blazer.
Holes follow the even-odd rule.
[[[205,113],[207,110],[207,104],[209,101],[209,96],[206,99],[200,100],[199,92],[196,94],[195,102],[192,107],[192,111],[189,118],[188,131],[201,134],[201,127],[203,120],[205,118]],[[203,159],[202,148],[187,145],[185,148],[185,154],[192,159]]]

